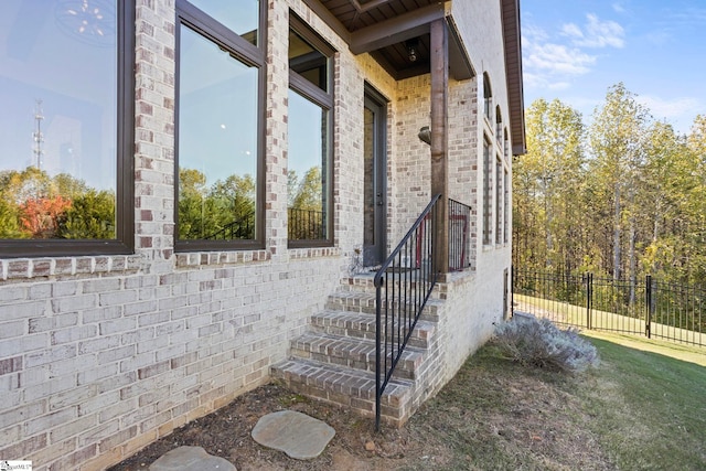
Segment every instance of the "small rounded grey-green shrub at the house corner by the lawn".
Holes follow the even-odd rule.
[[[548,319],[516,315],[496,327],[493,342],[523,365],[580,373],[599,362],[598,351],[578,330],[560,330]]]

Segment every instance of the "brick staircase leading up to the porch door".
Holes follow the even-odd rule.
[[[437,289],[435,289],[437,291]],[[436,393],[440,355],[438,292],[397,363],[381,400],[381,418],[402,426]],[[375,415],[375,287],[373,277],[344,278],[325,308],[312,315],[309,332],[291,342],[291,356],[271,367],[274,378],[306,396]]]

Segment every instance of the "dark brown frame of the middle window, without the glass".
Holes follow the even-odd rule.
[[[176,0],[175,38],[175,72],[174,72],[174,251],[217,251],[247,250],[265,247],[265,147],[266,147],[266,89],[267,63],[265,45],[267,44],[267,2],[260,0],[258,20],[258,40],[254,45],[232,31],[216,19],[201,11],[186,0]],[[236,60],[258,68],[257,79],[257,165],[255,178],[255,238],[211,240],[211,239],[179,239],[179,132],[180,132],[180,66],[181,66],[181,26],[185,25],[201,34],[208,41],[227,51]]]

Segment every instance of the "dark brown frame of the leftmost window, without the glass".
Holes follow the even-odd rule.
[[[116,1],[116,238],[0,239],[0,257],[81,257],[135,251],[135,0]]]

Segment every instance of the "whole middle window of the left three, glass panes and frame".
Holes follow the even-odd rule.
[[[259,247],[264,221],[259,3],[180,1],[178,11],[175,247]]]

